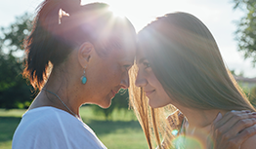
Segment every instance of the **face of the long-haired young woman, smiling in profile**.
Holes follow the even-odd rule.
[[[135,84],[137,87],[144,89],[144,92],[149,97],[149,105],[152,108],[157,108],[170,104],[171,98],[154,76],[149,61],[144,56],[143,52],[140,51],[137,53],[136,63],[139,67],[139,71]]]

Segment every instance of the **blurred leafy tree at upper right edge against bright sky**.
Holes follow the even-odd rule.
[[[244,58],[252,58],[253,66],[256,63],[256,0],[233,0],[234,9],[241,9],[245,16],[237,21],[235,31],[238,41],[238,51],[244,52]]]

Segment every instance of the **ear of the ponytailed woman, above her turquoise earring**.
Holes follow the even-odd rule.
[[[94,51],[94,45],[90,42],[84,42],[78,50],[78,60],[80,65],[85,68],[91,59],[92,52]]]

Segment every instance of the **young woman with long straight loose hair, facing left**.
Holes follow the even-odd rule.
[[[222,115],[226,115],[223,122],[234,125],[220,128],[219,123],[214,135],[222,132],[230,138],[242,133],[241,126],[255,131],[255,108],[227,69],[210,31],[190,14],[167,14],[139,32],[130,77],[135,81],[130,88],[131,106],[149,148],[153,136],[158,148],[201,149],[207,148],[208,141],[213,142],[209,148],[217,148],[216,140],[207,137],[214,119]],[[255,140],[256,135],[243,143],[236,141],[247,149]]]

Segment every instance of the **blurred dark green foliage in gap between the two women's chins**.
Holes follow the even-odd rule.
[[[113,110],[128,110],[129,102],[129,92],[128,90],[121,89],[115,96],[112,98],[111,105],[107,109],[103,109],[98,105],[91,105],[95,114],[104,114],[106,120],[111,119],[111,114]]]

